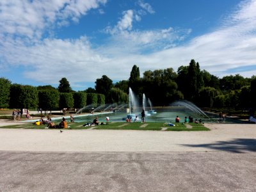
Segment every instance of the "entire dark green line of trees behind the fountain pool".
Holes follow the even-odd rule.
[[[76,108],[105,103],[127,103],[129,87],[142,99],[147,95],[154,106],[168,106],[175,100],[186,99],[197,106],[255,108],[256,77],[216,77],[191,60],[189,65],[173,68],[147,70],[140,77],[140,68],[134,65],[129,79],[113,83],[108,76],[96,79],[95,88],[75,92],[63,77],[58,88],[51,85],[30,86],[12,84],[0,78],[0,108]]]

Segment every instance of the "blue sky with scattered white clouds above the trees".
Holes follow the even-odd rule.
[[[1,0],[0,77],[73,90],[187,66],[256,75],[256,0]]]

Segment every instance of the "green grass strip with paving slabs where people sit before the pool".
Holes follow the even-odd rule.
[[[96,125],[83,127],[84,122],[70,123],[68,122],[68,129],[118,129],[118,130],[154,130],[154,131],[209,131],[203,124],[180,124],[175,123],[175,126],[170,127],[166,123],[159,122],[147,122],[144,124],[138,123],[127,123],[127,122],[109,122],[105,125]],[[21,125],[8,125],[0,128],[5,129],[45,129],[47,125],[33,125],[32,122]]]

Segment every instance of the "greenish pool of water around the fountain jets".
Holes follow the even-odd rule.
[[[147,110],[146,110],[147,111]],[[154,109],[156,111],[155,114],[146,113],[146,122],[175,122],[176,116],[179,116],[180,122],[184,122],[185,116],[191,116],[193,117],[193,120],[197,118],[198,120],[201,118],[203,122],[212,122],[212,123],[243,123],[239,122],[237,120],[234,120],[232,118],[225,118],[225,120],[220,120],[218,118],[218,115],[214,114],[208,114],[206,113],[206,116],[200,115],[198,113],[195,113],[191,111],[190,109],[184,108],[184,107],[165,107],[165,108],[156,108]],[[136,111],[132,113],[132,122],[135,118],[135,116],[138,116],[138,121],[141,120],[141,111]],[[95,116],[98,116],[99,122],[106,122],[106,117],[109,117],[110,122],[125,122],[125,119],[127,118],[126,111],[118,111],[115,113],[109,113],[109,114],[102,114],[102,115],[90,115],[90,116],[77,116],[76,122],[92,122]]]

